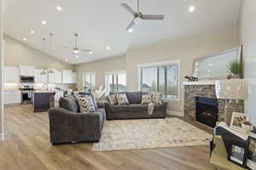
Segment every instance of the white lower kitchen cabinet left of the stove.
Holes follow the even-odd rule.
[[[20,90],[8,90],[3,92],[3,104],[20,104],[21,92]]]

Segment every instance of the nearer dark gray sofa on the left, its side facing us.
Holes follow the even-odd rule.
[[[98,105],[96,113],[80,113],[73,97],[61,98],[60,108],[49,110],[50,143],[97,142],[102,137],[105,109]]]

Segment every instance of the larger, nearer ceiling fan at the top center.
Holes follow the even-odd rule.
[[[163,14],[143,14],[140,11],[140,2],[137,0],[137,12],[133,10],[126,3],[122,3],[121,6],[125,8],[134,17],[131,24],[126,28],[126,31],[132,32],[132,27],[135,26],[141,20],[164,20],[165,15]]]

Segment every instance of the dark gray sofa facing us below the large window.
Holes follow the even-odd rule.
[[[125,92],[120,94],[126,94],[130,105],[110,105],[107,101],[107,103],[105,103],[107,120],[166,118],[166,102],[162,102],[160,105],[154,105],[153,114],[148,116],[148,105],[141,104],[142,95],[146,93]]]

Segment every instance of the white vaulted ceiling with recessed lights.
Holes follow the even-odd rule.
[[[79,64],[125,54],[129,48],[235,26],[240,8],[240,0],[142,0],[143,13],[165,14],[166,19],[143,21],[129,34],[125,28],[131,22],[131,14],[121,3],[137,6],[136,0],[9,0],[4,32],[20,41],[26,37],[30,46]],[[57,5],[61,12],[56,10]],[[191,5],[195,6],[193,14],[188,12]],[[47,25],[43,26],[42,20]],[[51,41],[49,32],[54,34]],[[79,47],[90,48],[92,55],[84,53],[76,59],[70,50],[62,48],[74,46],[73,32],[79,33]],[[43,37],[47,38],[44,43]]]

